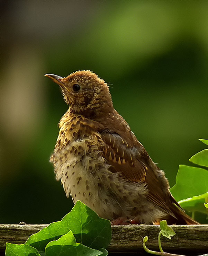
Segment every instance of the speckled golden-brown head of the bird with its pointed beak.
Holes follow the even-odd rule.
[[[60,86],[64,100],[74,113],[96,115],[112,109],[107,84],[89,70],[76,71],[64,78],[54,74],[45,76]]]

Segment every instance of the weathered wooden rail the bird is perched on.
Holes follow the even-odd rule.
[[[24,244],[27,238],[47,225],[0,224],[0,251],[5,251],[6,242]],[[201,255],[208,253],[208,225],[171,226],[176,235],[171,240],[161,237],[163,250],[183,255]],[[143,249],[143,237],[148,236],[148,249],[159,251],[156,225],[112,226],[112,240],[108,247],[110,255],[146,255]],[[3,255],[3,254],[1,254]],[[149,254],[150,255],[150,254]]]

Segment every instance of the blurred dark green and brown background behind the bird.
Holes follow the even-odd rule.
[[[91,70],[175,184],[208,139],[208,1],[1,1],[0,223],[72,208],[49,157],[67,105],[45,73]]]

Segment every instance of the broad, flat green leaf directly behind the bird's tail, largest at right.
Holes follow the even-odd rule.
[[[204,194],[208,191],[208,171],[202,168],[180,165],[176,184],[170,189],[175,200]]]

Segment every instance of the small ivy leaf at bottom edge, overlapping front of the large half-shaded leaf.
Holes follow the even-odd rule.
[[[76,239],[74,238],[72,231],[69,231],[56,241],[49,242],[45,248],[45,253],[46,256],[102,255],[102,251],[94,250],[85,245],[76,243]]]

